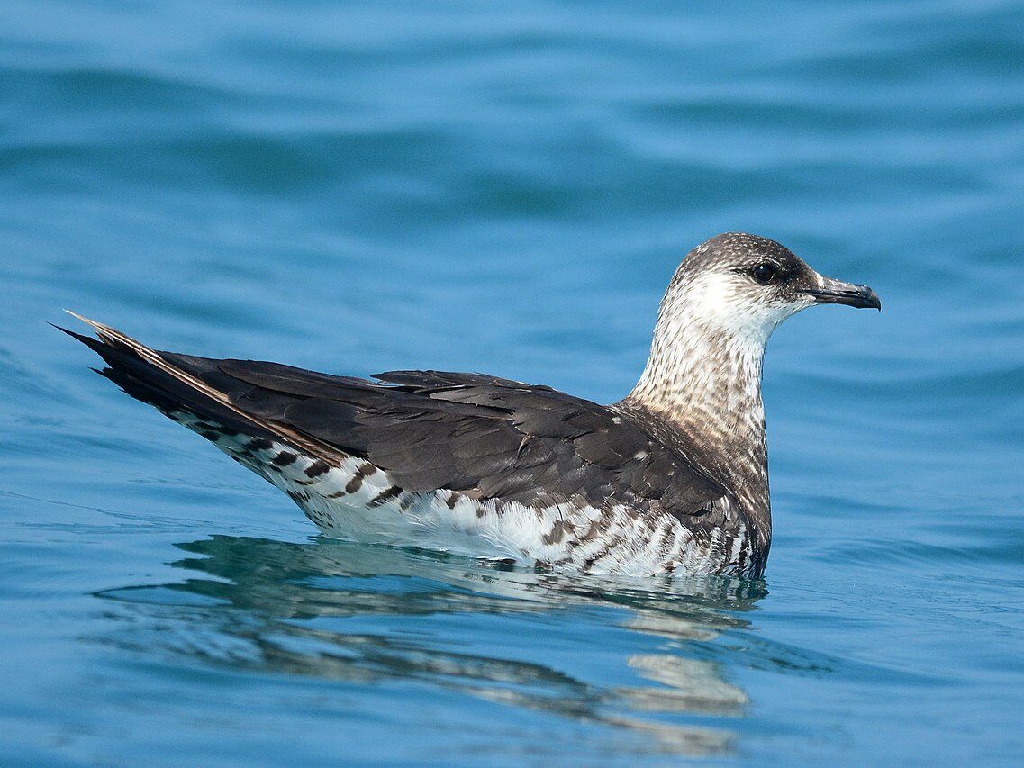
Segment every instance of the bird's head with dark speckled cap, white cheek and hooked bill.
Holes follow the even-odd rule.
[[[775,241],[727,232],[687,254],[669,286],[659,323],[695,323],[716,335],[763,345],[782,321],[814,304],[882,308],[867,286],[818,274]]]

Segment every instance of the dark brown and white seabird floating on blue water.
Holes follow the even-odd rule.
[[[759,579],[765,346],[815,304],[882,309],[779,243],[683,258],[636,386],[602,406],[477,373],[372,379],[158,351],[71,312],[98,373],[286,493],[327,537],[555,571]]]

